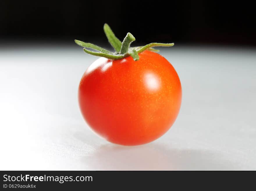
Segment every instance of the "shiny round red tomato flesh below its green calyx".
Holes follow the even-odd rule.
[[[168,131],[179,113],[182,88],[173,66],[152,51],[139,57],[99,58],[79,84],[84,119],[115,144],[151,142]]]

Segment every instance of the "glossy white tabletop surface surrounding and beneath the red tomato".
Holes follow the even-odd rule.
[[[171,47],[183,99],[161,138],[123,147],[83,121],[79,47],[0,49],[0,170],[256,170],[256,52]]]

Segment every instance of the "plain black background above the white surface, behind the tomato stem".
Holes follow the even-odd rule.
[[[0,1],[0,42],[105,43],[108,23],[138,43],[256,45],[254,6],[245,1]]]

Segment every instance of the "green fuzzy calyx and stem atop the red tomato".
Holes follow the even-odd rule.
[[[109,40],[109,43],[112,45],[112,47],[115,49],[116,52],[113,53],[97,45],[87,43],[87,42],[82,42],[80,40],[75,40],[75,43],[77,43],[81,47],[84,47],[83,51],[93,56],[100,56],[100,57],[108,58],[110,60],[119,60],[127,56],[131,56],[135,61],[139,60],[138,54],[145,50],[150,50],[154,52],[159,51],[159,50],[153,49],[152,47],[171,47],[174,45],[174,43],[150,43],[141,47],[130,47],[131,42],[135,41],[135,38],[131,33],[127,33],[123,42],[121,42],[115,36],[115,34],[113,33],[113,31],[111,30],[108,24],[104,24],[103,29]],[[97,52],[90,51],[86,48],[94,49]]]

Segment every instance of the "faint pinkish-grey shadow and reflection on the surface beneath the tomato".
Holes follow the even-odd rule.
[[[124,147],[105,144],[82,162],[91,170],[231,170],[237,166],[223,154],[207,150],[167,148],[160,143]]]

